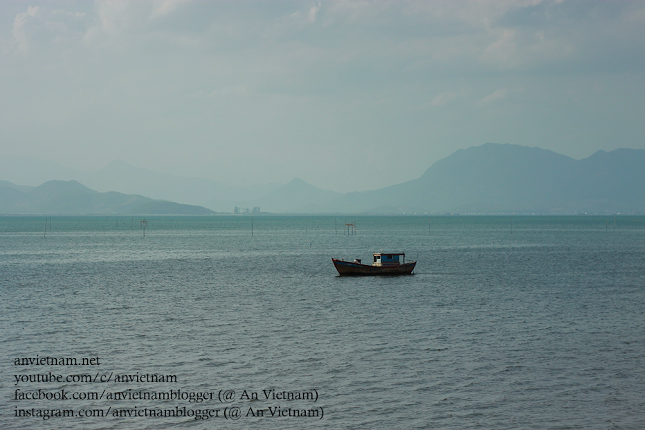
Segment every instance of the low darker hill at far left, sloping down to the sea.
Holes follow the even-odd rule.
[[[211,215],[201,206],[120,192],[98,192],[78,181],[48,181],[37,187],[0,181],[0,213],[60,215]]]

